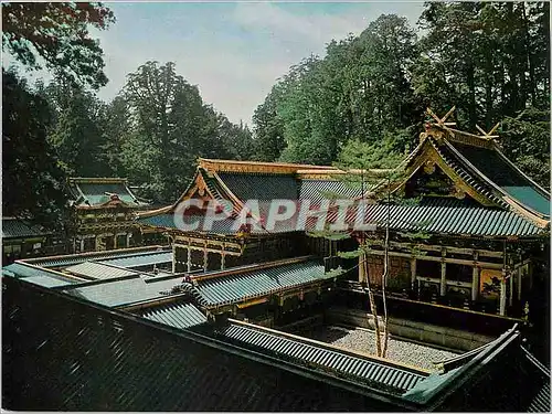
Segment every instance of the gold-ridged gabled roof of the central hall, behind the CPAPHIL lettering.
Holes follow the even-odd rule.
[[[295,232],[295,222],[279,222],[272,231],[263,224],[272,200],[310,200],[319,203],[323,199],[353,199],[361,194],[359,183],[339,181],[341,174],[333,167],[304,166],[293,163],[248,162],[200,159],[199,167],[188,189],[172,205],[138,214],[138,223],[147,226],[178,229],[174,213],[178,205],[188,199],[229,200],[234,212],[248,200],[259,201],[258,229],[246,230],[252,234]],[[193,217],[184,219],[195,220]],[[235,216],[216,221],[211,233],[230,235],[237,233],[233,224]]]

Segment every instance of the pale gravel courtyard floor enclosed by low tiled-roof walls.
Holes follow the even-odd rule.
[[[314,330],[301,330],[297,335],[331,343],[337,347],[375,355],[375,336],[368,329],[352,329],[336,326],[317,327]],[[431,348],[390,337],[388,343],[388,359],[403,362],[408,365],[433,370],[432,362],[439,362],[457,353]]]

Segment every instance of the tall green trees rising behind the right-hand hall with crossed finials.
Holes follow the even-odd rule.
[[[383,137],[401,152],[416,142],[426,107],[456,105],[461,129],[502,123],[507,155],[548,187],[549,18],[548,2],[432,2],[417,39],[405,19],[381,15],[273,87],[253,118],[256,157],[329,164],[343,146]]]

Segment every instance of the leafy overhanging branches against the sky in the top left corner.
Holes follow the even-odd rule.
[[[102,3],[2,3],[2,50],[28,68],[61,71],[74,83],[107,84],[99,43],[88,26],[107,29],[115,21]]]

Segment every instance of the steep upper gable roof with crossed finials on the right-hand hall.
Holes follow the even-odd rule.
[[[539,227],[550,226],[550,193],[519,170],[493,139],[433,124],[426,128],[406,159],[408,177],[421,168],[438,167],[482,205],[513,211]]]

